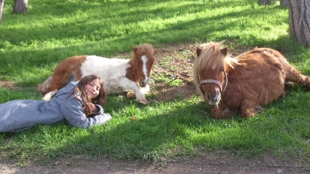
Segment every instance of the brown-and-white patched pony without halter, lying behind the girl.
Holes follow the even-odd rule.
[[[158,50],[150,44],[132,47],[131,59],[108,59],[98,56],[73,56],[57,65],[53,74],[38,85],[37,89],[50,100],[57,91],[70,81],[80,80],[87,75],[97,75],[103,80],[107,93],[128,92],[127,97],[147,104],[144,94],[149,91],[148,77]],[[141,89],[141,90],[140,90]]]

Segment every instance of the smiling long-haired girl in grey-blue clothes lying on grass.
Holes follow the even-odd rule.
[[[70,82],[50,101],[13,100],[0,105],[0,132],[19,132],[35,124],[69,122],[73,127],[101,125],[112,117],[103,113],[106,92],[100,77]]]

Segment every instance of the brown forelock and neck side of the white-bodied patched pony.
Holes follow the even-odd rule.
[[[131,59],[129,60],[130,68],[130,75],[126,73],[126,77],[139,83],[138,82],[138,68],[135,62],[139,59],[142,55],[145,55],[148,58],[148,61],[154,61],[154,48],[150,44],[142,44],[136,47],[136,51],[133,52]]]

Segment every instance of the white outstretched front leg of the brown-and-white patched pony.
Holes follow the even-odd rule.
[[[142,94],[142,92],[139,89],[139,86],[137,83],[135,83],[132,80],[129,79],[125,79],[122,78],[122,80],[120,80],[120,87],[122,87],[124,90],[129,89],[131,90],[133,93],[130,93],[130,95],[135,95],[136,99],[135,101],[143,103],[143,104],[149,104],[148,101],[146,101],[144,95]],[[128,93],[127,93],[128,96]]]

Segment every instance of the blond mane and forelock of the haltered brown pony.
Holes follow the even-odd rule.
[[[199,89],[199,78],[198,78],[198,72],[201,71],[208,71],[210,69],[220,69],[223,66],[226,67],[230,66],[233,68],[233,63],[238,64],[238,60],[225,57],[221,52],[221,44],[224,41],[221,42],[208,42],[201,44],[198,49],[201,49],[201,53],[199,57],[197,56],[194,62],[193,67],[193,81],[194,84],[197,86],[197,89]],[[200,90],[198,90],[200,91]]]

